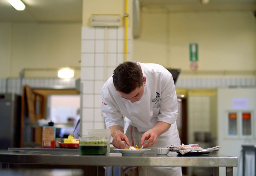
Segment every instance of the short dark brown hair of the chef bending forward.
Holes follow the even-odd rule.
[[[131,93],[143,85],[143,74],[137,63],[124,62],[114,70],[113,83],[117,91]]]

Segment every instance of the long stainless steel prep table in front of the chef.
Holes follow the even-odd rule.
[[[237,157],[221,154],[180,156],[176,152],[168,155],[143,154],[142,156],[122,156],[121,153],[107,155],[81,155],[79,149],[9,148],[0,150],[0,163],[6,164],[46,164],[72,166],[182,166],[213,167],[214,176],[219,175],[219,167],[226,167],[226,175],[233,175]]]

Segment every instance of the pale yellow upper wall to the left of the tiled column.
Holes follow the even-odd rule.
[[[0,77],[19,77],[23,68],[80,67],[82,23],[0,22]],[[25,72],[57,77],[57,71]],[[80,70],[76,70],[80,77]]]

